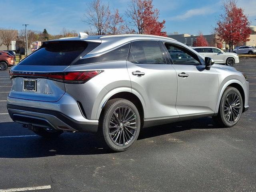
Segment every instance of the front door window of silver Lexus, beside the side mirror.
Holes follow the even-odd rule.
[[[201,65],[198,56],[186,48],[170,43],[164,45],[170,53],[173,64]]]

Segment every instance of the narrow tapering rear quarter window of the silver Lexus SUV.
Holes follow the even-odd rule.
[[[126,60],[128,56],[129,48],[130,48],[130,43],[124,46],[121,46],[119,48],[116,48],[105,54],[102,54],[100,56],[80,59],[75,63],[75,65]]]

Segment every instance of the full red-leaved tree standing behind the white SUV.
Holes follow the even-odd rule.
[[[246,42],[250,38],[250,22],[242,8],[236,6],[237,0],[223,2],[224,14],[220,15],[215,28],[220,42],[229,45],[229,52],[233,52],[233,45]]]

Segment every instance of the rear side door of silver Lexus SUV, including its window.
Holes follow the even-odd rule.
[[[127,69],[132,92],[138,92],[145,102],[145,119],[178,117],[177,76],[166,54],[158,41],[131,42]]]

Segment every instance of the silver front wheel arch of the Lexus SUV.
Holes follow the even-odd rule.
[[[226,84],[224,84],[224,86],[222,87],[222,89],[220,91],[219,98],[218,98],[218,103],[217,103],[216,110],[215,110],[216,113],[218,113],[219,106],[220,106],[220,100],[222,98],[223,92],[226,90],[227,87],[234,87],[240,92],[240,94],[242,96],[242,100],[243,100],[243,112],[244,112],[244,110],[245,110],[245,108],[244,108],[244,106],[245,106],[245,90],[244,90],[243,85],[240,81],[232,80],[232,81],[226,82]]]

